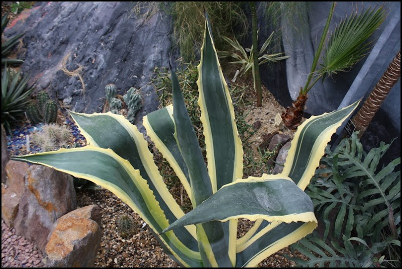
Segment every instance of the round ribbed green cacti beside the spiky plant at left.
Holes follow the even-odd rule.
[[[27,117],[32,124],[56,122],[57,104],[49,98],[45,91],[39,92],[36,102],[31,102],[26,109]]]

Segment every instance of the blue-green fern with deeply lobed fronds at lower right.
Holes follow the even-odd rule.
[[[395,171],[400,157],[378,167],[389,146],[382,142],[365,153],[353,133],[333,152],[327,149],[324,168],[307,190],[325,230],[322,237],[309,236],[296,244],[309,257],[298,259],[300,265],[400,266],[395,249],[400,247],[400,171]]]

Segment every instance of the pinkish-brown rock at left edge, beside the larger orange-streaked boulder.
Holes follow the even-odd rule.
[[[20,199],[25,191],[24,176],[28,170],[28,164],[10,160],[6,167],[8,180],[2,184],[2,219],[12,228],[17,217]]]

